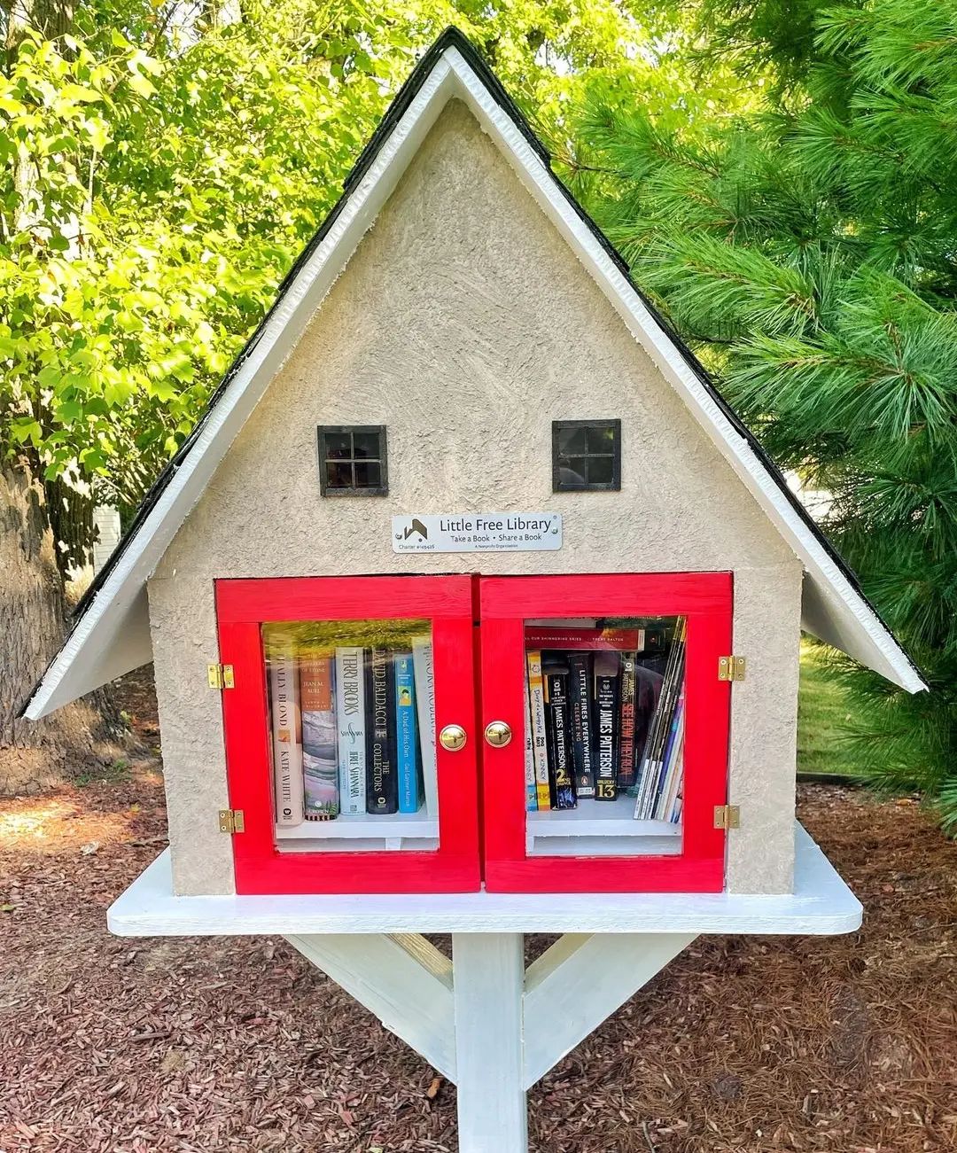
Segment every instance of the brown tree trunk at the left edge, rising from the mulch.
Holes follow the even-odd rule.
[[[43,488],[0,470],[0,796],[33,793],[115,758],[123,740],[95,693],[42,721],[18,719],[65,634],[63,579]]]

